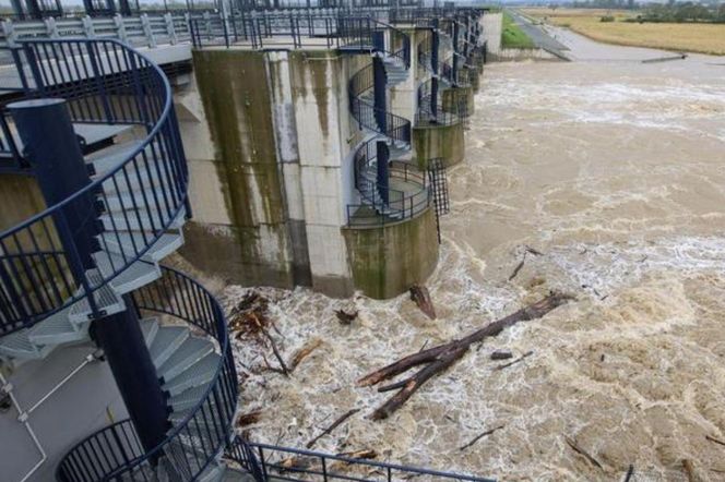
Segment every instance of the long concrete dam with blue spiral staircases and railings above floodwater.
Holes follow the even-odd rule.
[[[187,7],[2,21],[1,478],[487,480],[237,433],[225,310],[178,268],[340,297],[425,281],[484,12]]]

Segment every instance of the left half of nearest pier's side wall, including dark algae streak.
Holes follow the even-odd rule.
[[[194,73],[213,152],[190,149],[200,150],[190,156],[195,176],[191,201],[199,210],[185,229],[188,242],[181,254],[198,268],[239,282],[290,286],[292,241],[264,56],[195,51]],[[195,156],[210,154],[211,159]]]

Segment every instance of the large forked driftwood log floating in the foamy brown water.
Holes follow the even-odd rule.
[[[378,391],[389,391],[394,389],[400,389],[400,391],[380,406],[372,413],[371,419],[382,420],[388,418],[391,413],[401,408],[423,384],[435,375],[442,373],[461,359],[473,344],[483,341],[487,337],[497,336],[503,332],[503,329],[513,326],[519,322],[539,318],[572,299],[573,297],[569,294],[551,293],[543,300],[523,308],[504,318],[490,323],[464,338],[409,354],[388,366],[364,376],[357,382],[358,386],[377,385],[380,382],[394,377],[395,375],[405,373],[414,366],[426,365],[404,381],[380,387]]]

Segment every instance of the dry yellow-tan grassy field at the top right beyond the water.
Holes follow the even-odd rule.
[[[627,10],[525,9],[526,15],[566,26],[594,40],[664,50],[725,55],[725,24],[625,22],[637,16]],[[604,15],[614,22],[602,22]]]

